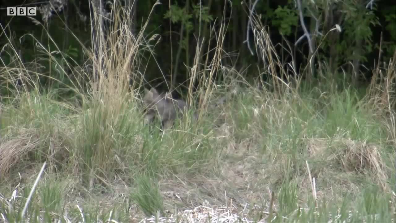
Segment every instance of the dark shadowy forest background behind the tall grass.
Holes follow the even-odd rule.
[[[130,16],[134,21],[132,29],[135,32],[150,19],[145,35],[147,39],[155,37],[159,41],[152,47],[154,57],[143,55],[141,68],[144,70],[140,71],[145,74],[146,83],[150,83],[150,86],[165,87],[164,81],[169,82],[172,79],[173,83],[187,86],[186,67],[193,63],[197,42],[204,39],[204,49],[208,48],[208,45],[210,48],[211,44],[215,46],[216,43],[213,41],[216,40],[211,35],[211,29],[219,27],[220,21],[228,25],[223,45],[223,50],[227,53],[222,58],[222,64],[244,71],[242,74],[246,79],[261,75],[265,80],[265,67],[260,62],[262,58],[257,51],[260,49],[256,48],[254,33],[249,27],[250,12],[258,15],[259,22],[268,29],[270,40],[276,46],[282,64],[287,66],[294,58],[296,70],[290,69],[290,75],[303,74],[305,80],[316,77],[316,70],[320,68],[317,62],[320,61],[326,65],[328,75],[346,75],[351,83],[359,85],[369,83],[372,69],[382,62],[387,62],[396,49],[394,1],[163,0],[154,7],[151,15],[156,2],[154,0],[94,2],[102,5],[105,12],[110,12],[113,4],[131,7]],[[199,5],[200,2],[202,7]],[[38,62],[40,54],[31,36],[26,34],[29,33],[42,43],[48,44],[49,51],[55,48],[54,44],[48,41],[50,36],[70,61],[81,66],[88,58],[84,56],[75,37],[87,47],[91,46],[91,3],[86,0],[2,0],[1,48],[6,50],[4,46],[10,41],[23,62]],[[301,3],[300,10],[297,3]],[[46,35],[44,28],[35,25],[27,16],[7,16],[6,8],[16,6],[38,7],[34,18],[47,26],[46,30],[50,35]],[[225,18],[221,20],[223,12]],[[301,23],[300,13],[304,24]],[[110,20],[105,19],[104,27],[107,30],[111,25]],[[301,38],[304,35],[302,25],[307,27],[311,35],[312,48],[317,49],[311,69],[306,69],[309,67],[308,58],[312,56],[312,52],[307,38]],[[197,40],[198,36],[200,40]],[[2,66],[9,66],[13,61],[12,57],[12,54],[2,52]],[[46,63],[46,60],[42,60],[41,73],[49,73],[51,67]],[[304,69],[307,72],[302,72]],[[68,81],[67,74],[51,75],[55,75],[53,77],[56,79]],[[223,76],[217,77],[218,80],[222,78]],[[42,77],[40,81],[45,85],[48,79]]]

